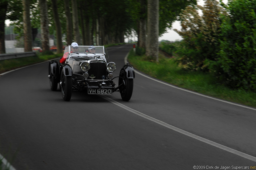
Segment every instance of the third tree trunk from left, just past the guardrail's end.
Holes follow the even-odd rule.
[[[40,6],[40,24],[41,24],[41,40],[42,40],[42,51],[49,51],[49,21],[48,21],[48,10],[47,1],[39,0]]]

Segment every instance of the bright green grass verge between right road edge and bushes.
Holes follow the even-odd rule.
[[[209,73],[186,71],[173,58],[159,55],[159,62],[156,63],[146,56],[135,55],[135,52],[131,50],[128,60],[137,70],[170,84],[223,100],[256,107],[255,92],[225,87]]]

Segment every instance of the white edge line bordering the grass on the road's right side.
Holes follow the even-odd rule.
[[[128,54],[129,54],[129,53],[128,53]],[[124,58],[124,62],[125,62],[125,63],[127,62],[128,54],[127,54],[127,55],[125,56],[125,58]],[[179,88],[179,87],[175,87],[175,86],[170,85],[170,84],[167,84],[167,83],[165,83],[165,82],[162,82],[162,81],[153,79],[153,78],[151,78],[151,77],[148,77],[148,76],[146,76],[146,75],[144,75],[144,74],[142,74],[142,73],[140,73],[140,72],[138,72],[138,71],[136,71],[136,70],[134,70],[134,72],[136,72],[137,74],[142,75],[142,76],[144,76],[144,77],[146,77],[146,78],[149,78],[149,79],[151,79],[151,80],[157,81],[157,82],[159,82],[159,83],[165,84],[165,85],[167,85],[167,86],[170,86],[170,87],[173,87],[173,88],[176,88],[176,89],[179,89],[179,90],[183,90],[183,91],[186,91],[186,92],[189,92],[189,93],[197,94],[197,95],[200,95],[200,96],[203,96],[203,97],[207,97],[207,98],[209,98],[209,99],[218,100],[218,101],[225,102],[225,103],[228,103],[228,104],[233,104],[233,105],[240,106],[240,107],[243,107],[243,108],[246,108],[246,109],[256,110],[256,108],[251,108],[251,107],[244,106],[244,105],[241,105],[241,104],[232,103],[232,102],[228,102],[228,101],[225,101],[225,100],[213,98],[213,97],[210,97],[210,96],[207,96],[207,95],[204,95],[204,94],[200,94],[200,93],[197,93],[197,92],[194,92],[194,91],[190,91],[190,90],[182,89],[182,88]]]

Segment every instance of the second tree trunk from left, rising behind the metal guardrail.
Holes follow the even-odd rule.
[[[24,51],[32,51],[32,33],[30,23],[30,3],[29,0],[22,0],[23,5],[23,32],[24,32]]]

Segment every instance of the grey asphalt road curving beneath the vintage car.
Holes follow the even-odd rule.
[[[114,76],[131,48],[108,48],[108,61],[118,66]],[[119,92],[73,92],[65,102],[47,76],[48,62],[0,76],[0,153],[8,161],[17,153],[17,170],[256,166],[255,108],[138,73],[129,102]]]

